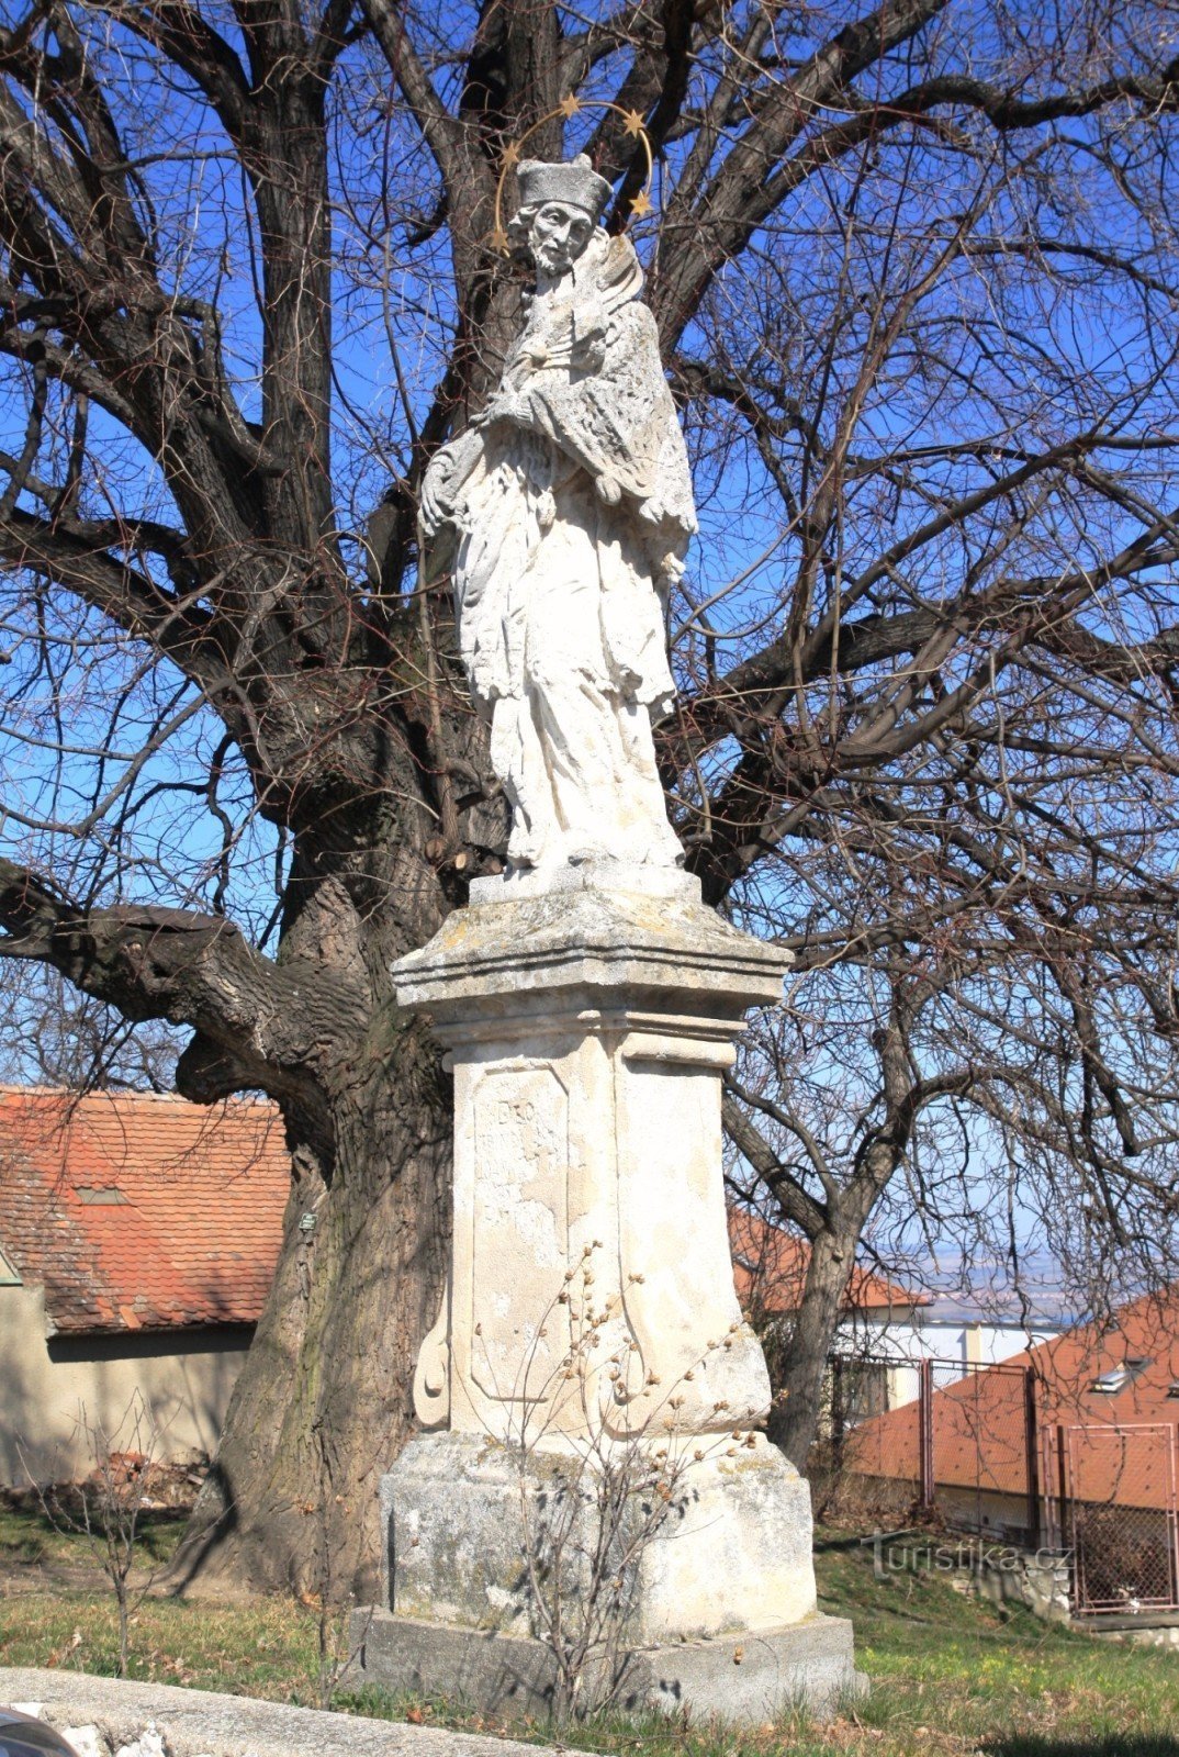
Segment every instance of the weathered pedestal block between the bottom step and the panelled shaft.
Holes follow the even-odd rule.
[[[629,1481],[615,1474],[608,1485],[615,1497],[620,1483],[629,1493],[599,1569],[627,1578],[618,1620],[626,1639],[648,1646],[810,1616],[810,1492],[792,1465],[761,1435],[729,1446],[680,1437],[669,1450],[671,1465],[664,1462],[659,1474],[669,1500],[648,1486],[641,1446],[624,1464]],[[390,1532],[388,1604],[399,1616],[513,1636],[539,1638],[546,1629],[529,1551],[550,1597],[552,1558],[562,1555],[562,1618],[576,1630],[590,1592],[589,1557],[613,1529],[594,1457],[520,1453],[471,1434],[411,1441],[381,1481],[381,1508]],[[618,1562],[620,1550],[634,1560]]]

